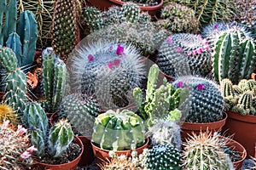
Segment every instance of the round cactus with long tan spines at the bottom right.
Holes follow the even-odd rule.
[[[183,166],[186,169],[234,169],[230,156],[224,153],[225,143],[218,135],[209,132],[193,134],[183,145]]]

